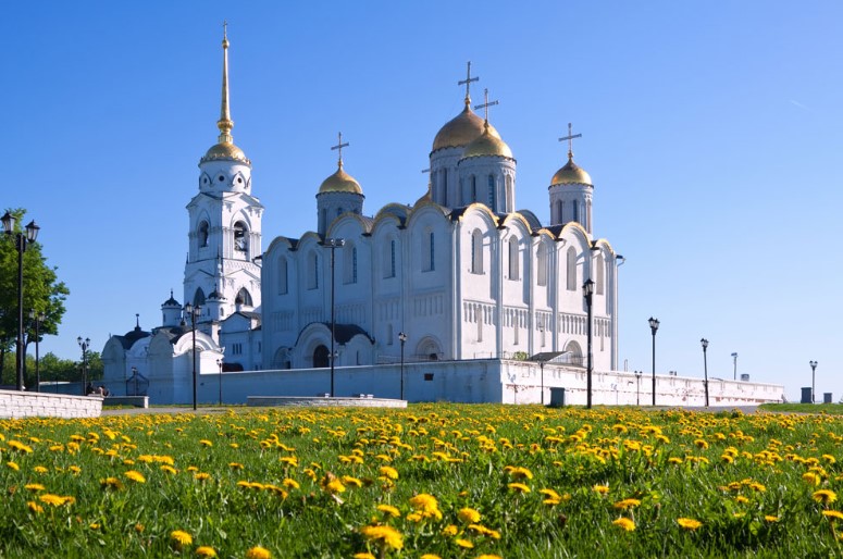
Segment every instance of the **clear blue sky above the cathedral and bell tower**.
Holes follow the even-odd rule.
[[[289,5],[288,5],[289,4]],[[42,351],[160,324],[182,300],[185,206],[215,142],[222,22],[234,138],[263,247],[315,228],[337,131],[365,212],[426,187],[466,61],[499,107],[517,206],[546,222],[573,122],[595,234],[620,269],[620,363],[843,393],[843,4],[17,2],[4,8],[0,206],[23,207],[70,289]]]

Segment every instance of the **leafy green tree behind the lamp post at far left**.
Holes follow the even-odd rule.
[[[15,216],[15,229],[23,228],[26,210],[9,210]],[[17,339],[17,249],[11,235],[0,234],[0,384],[14,384],[14,358],[8,367],[7,355],[14,356]],[[24,347],[35,341],[35,324],[29,311],[44,313],[38,328],[39,337],[59,333],[64,315],[64,301],[70,295],[64,282],[60,282],[57,268],[47,264],[39,243],[27,244],[23,259],[24,287]],[[34,369],[33,369],[34,370]]]

